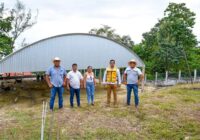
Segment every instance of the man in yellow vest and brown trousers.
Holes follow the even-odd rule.
[[[117,104],[117,85],[121,85],[119,69],[115,66],[115,60],[110,60],[110,66],[104,72],[103,84],[107,85],[107,105],[110,105],[111,92],[114,95],[114,105]]]

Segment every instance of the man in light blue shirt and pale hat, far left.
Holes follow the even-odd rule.
[[[66,70],[60,66],[60,58],[55,57],[53,60],[53,66],[51,66],[46,71],[46,81],[51,88],[51,99],[50,99],[50,110],[53,111],[54,107],[54,101],[56,97],[56,93],[58,93],[58,105],[59,109],[63,107],[63,92],[64,92],[64,86],[66,86]]]

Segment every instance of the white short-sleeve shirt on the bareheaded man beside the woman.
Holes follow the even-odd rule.
[[[80,80],[83,79],[82,74],[79,71],[70,71],[67,74],[67,78],[69,79],[69,84],[74,89],[80,88]]]

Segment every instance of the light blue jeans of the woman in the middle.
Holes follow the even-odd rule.
[[[94,82],[86,82],[86,92],[88,104],[94,103]]]

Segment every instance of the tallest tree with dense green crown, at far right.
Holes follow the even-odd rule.
[[[166,62],[166,69],[172,66],[182,66],[183,60],[187,63],[189,51],[196,47],[197,40],[192,33],[195,24],[195,13],[190,11],[184,3],[170,3],[160,20],[158,32],[159,54]]]

